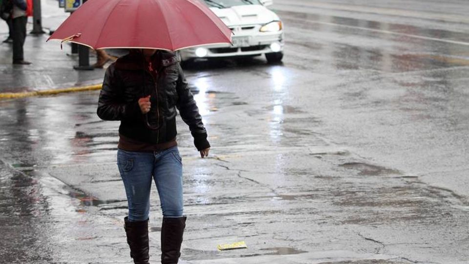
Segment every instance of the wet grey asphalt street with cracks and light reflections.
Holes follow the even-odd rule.
[[[469,263],[468,2],[272,9],[282,64],[185,68],[212,148],[198,157],[177,119],[180,263]],[[98,95],[0,100],[1,263],[131,263],[119,124],[98,118]],[[161,220],[153,188],[151,263]]]

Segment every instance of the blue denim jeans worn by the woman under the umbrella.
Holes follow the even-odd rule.
[[[117,166],[126,188],[129,221],[148,219],[152,179],[163,216],[182,217],[182,160],[177,146],[154,153],[119,149]]]

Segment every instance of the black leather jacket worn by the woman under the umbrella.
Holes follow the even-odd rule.
[[[151,61],[156,78],[146,69],[143,55],[135,51],[107,68],[99,95],[98,116],[103,120],[121,121],[119,133],[126,137],[158,144],[176,137],[177,108],[189,125],[197,150],[209,148],[202,117],[177,56],[169,51],[158,51]],[[140,111],[138,99],[148,95],[151,110],[146,116]]]

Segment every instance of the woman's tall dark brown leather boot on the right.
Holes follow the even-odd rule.
[[[177,264],[181,256],[181,243],[186,217],[163,218],[161,227],[161,263]]]

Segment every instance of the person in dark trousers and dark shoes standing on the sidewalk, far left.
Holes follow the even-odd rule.
[[[13,0],[13,64],[29,65],[30,62],[24,60],[23,45],[26,39],[26,0]]]

